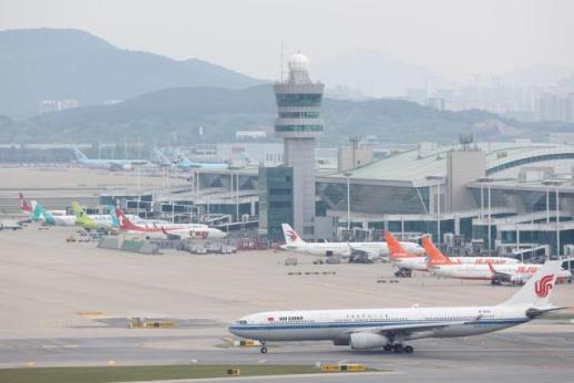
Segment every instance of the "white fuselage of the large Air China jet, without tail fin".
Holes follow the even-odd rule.
[[[386,327],[452,322],[412,332],[393,341],[484,334],[530,319],[529,307],[404,308],[361,310],[271,311],[239,319],[229,327],[235,335],[259,341],[320,341],[348,344],[351,333],[385,332]],[[398,332],[400,333],[400,332]]]

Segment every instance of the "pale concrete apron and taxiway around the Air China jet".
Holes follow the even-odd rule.
[[[353,352],[327,342],[271,344],[269,353],[234,349],[226,327],[274,309],[492,304],[516,291],[482,281],[418,273],[398,283],[388,265],[299,265],[293,253],[246,251],[192,256],[167,250],[143,256],[65,242],[74,228],[0,231],[0,366],[158,363],[358,362],[390,369],[385,381],[567,382],[574,376],[574,325],[537,321],[467,339],[411,342],[412,355]],[[289,271],[336,275],[289,276]],[[574,284],[552,301],[571,306]],[[170,330],[131,330],[127,317],[172,318]],[[326,381],[322,376],[276,380]],[[353,375],[356,382],[379,375]],[[249,380],[247,380],[249,381]]]

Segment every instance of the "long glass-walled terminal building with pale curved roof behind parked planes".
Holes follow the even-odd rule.
[[[567,145],[426,143],[348,172],[316,172],[316,238],[340,237],[349,217],[355,237],[378,239],[387,228],[404,236],[431,234],[444,244],[545,245],[552,252],[560,241],[564,253],[564,246],[574,244],[573,168],[574,147]],[[289,166],[197,170],[196,190],[181,197],[193,199],[198,211],[257,219],[276,240],[279,220],[293,219],[291,172]],[[271,203],[280,215],[269,210]]]

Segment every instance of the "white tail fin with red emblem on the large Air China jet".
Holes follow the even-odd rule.
[[[533,304],[544,307],[547,304],[554,283],[561,272],[561,260],[549,260],[529,279],[514,296],[501,306]]]

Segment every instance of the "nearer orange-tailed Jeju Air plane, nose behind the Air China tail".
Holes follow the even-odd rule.
[[[514,283],[523,283],[540,268],[542,268],[542,265],[499,263],[496,265],[496,269],[494,269],[493,263],[490,262],[485,265],[455,263],[437,249],[429,237],[422,238],[422,245],[429,253],[429,271],[437,277],[490,280],[494,282],[501,278],[505,278],[509,282],[514,281]],[[568,270],[564,270],[562,268],[558,268],[555,273],[558,279],[572,276]]]

